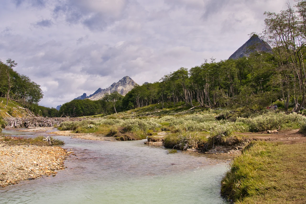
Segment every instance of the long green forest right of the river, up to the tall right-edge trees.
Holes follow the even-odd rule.
[[[264,29],[259,36],[271,45],[271,53],[254,52],[248,58],[219,62],[211,58],[189,70],[181,67],[158,82],[134,87],[114,107],[124,111],[150,104],[159,103],[164,108],[184,102],[190,107],[259,111],[274,103],[286,112],[304,110],[306,3],[300,1],[294,7],[288,4],[280,13],[264,14]],[[69,102],[66,106],[96,104],[90,114],[116,112],[107,100],[86,101]],[[110,104],[105,106],[107,103]],[[80,116],[74,113],[77,111],[60,112]],[[84,111],[82,114],[86,115]]]

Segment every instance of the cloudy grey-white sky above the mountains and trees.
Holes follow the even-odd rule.
[[[293,5],[293,0],[289,0]],[[228,59],[285,0],[1,0],[0,59],[56,107],[125,76],[153,83]],[[210,61],[210,60],[209,60]]]

